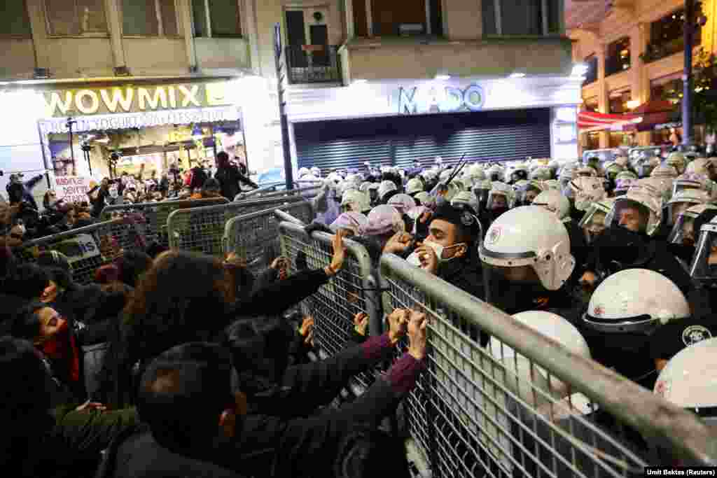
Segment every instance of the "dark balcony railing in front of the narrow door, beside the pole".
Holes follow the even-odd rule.
[[[286,47],[290,85],[341,82],[341,60],[336,45]]]

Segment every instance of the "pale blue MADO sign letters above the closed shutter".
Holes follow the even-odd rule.
[[[398,95],[399,115],[480,111],[485,103],[483,88],[475,84],[465,89],[435,85],[400,87]]]

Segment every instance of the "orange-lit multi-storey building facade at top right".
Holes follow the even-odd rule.
[[[695,32],[696,56],[701,49],[716,51],[717,12],[714,0],[695,4],[704,17]],[[663,100],[665,93],[681,91],[684,18],[684,1],[680,0],[619,0],[607,10],[594,2],[569,4],[566,24],[574,41],[573,58],[588,67],[581,108],[630,113],[639,105]],[[661,145],[668,143],[673,133],[681,134],[678,123],[656,128],[640,133],[580,133],[581,149]],[[695,128],[695,135],[703,140],[703,129]]]

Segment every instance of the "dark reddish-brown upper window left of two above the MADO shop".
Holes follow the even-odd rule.
[[[377,37],[441,35],[440,4],[440,0],[371,0],[371,11],[366,12],[366,21],[369,21],[370,14],[371,31]],[[355,19],[357,35],[363,30],[359,24],[361,19],[361,16]]]

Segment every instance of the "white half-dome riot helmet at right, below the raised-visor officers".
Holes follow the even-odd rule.
[[[685,295],[670,279],[649,269],[625,269],[597,286],[582,321],[603,333],[634,333],[689,316]]]

